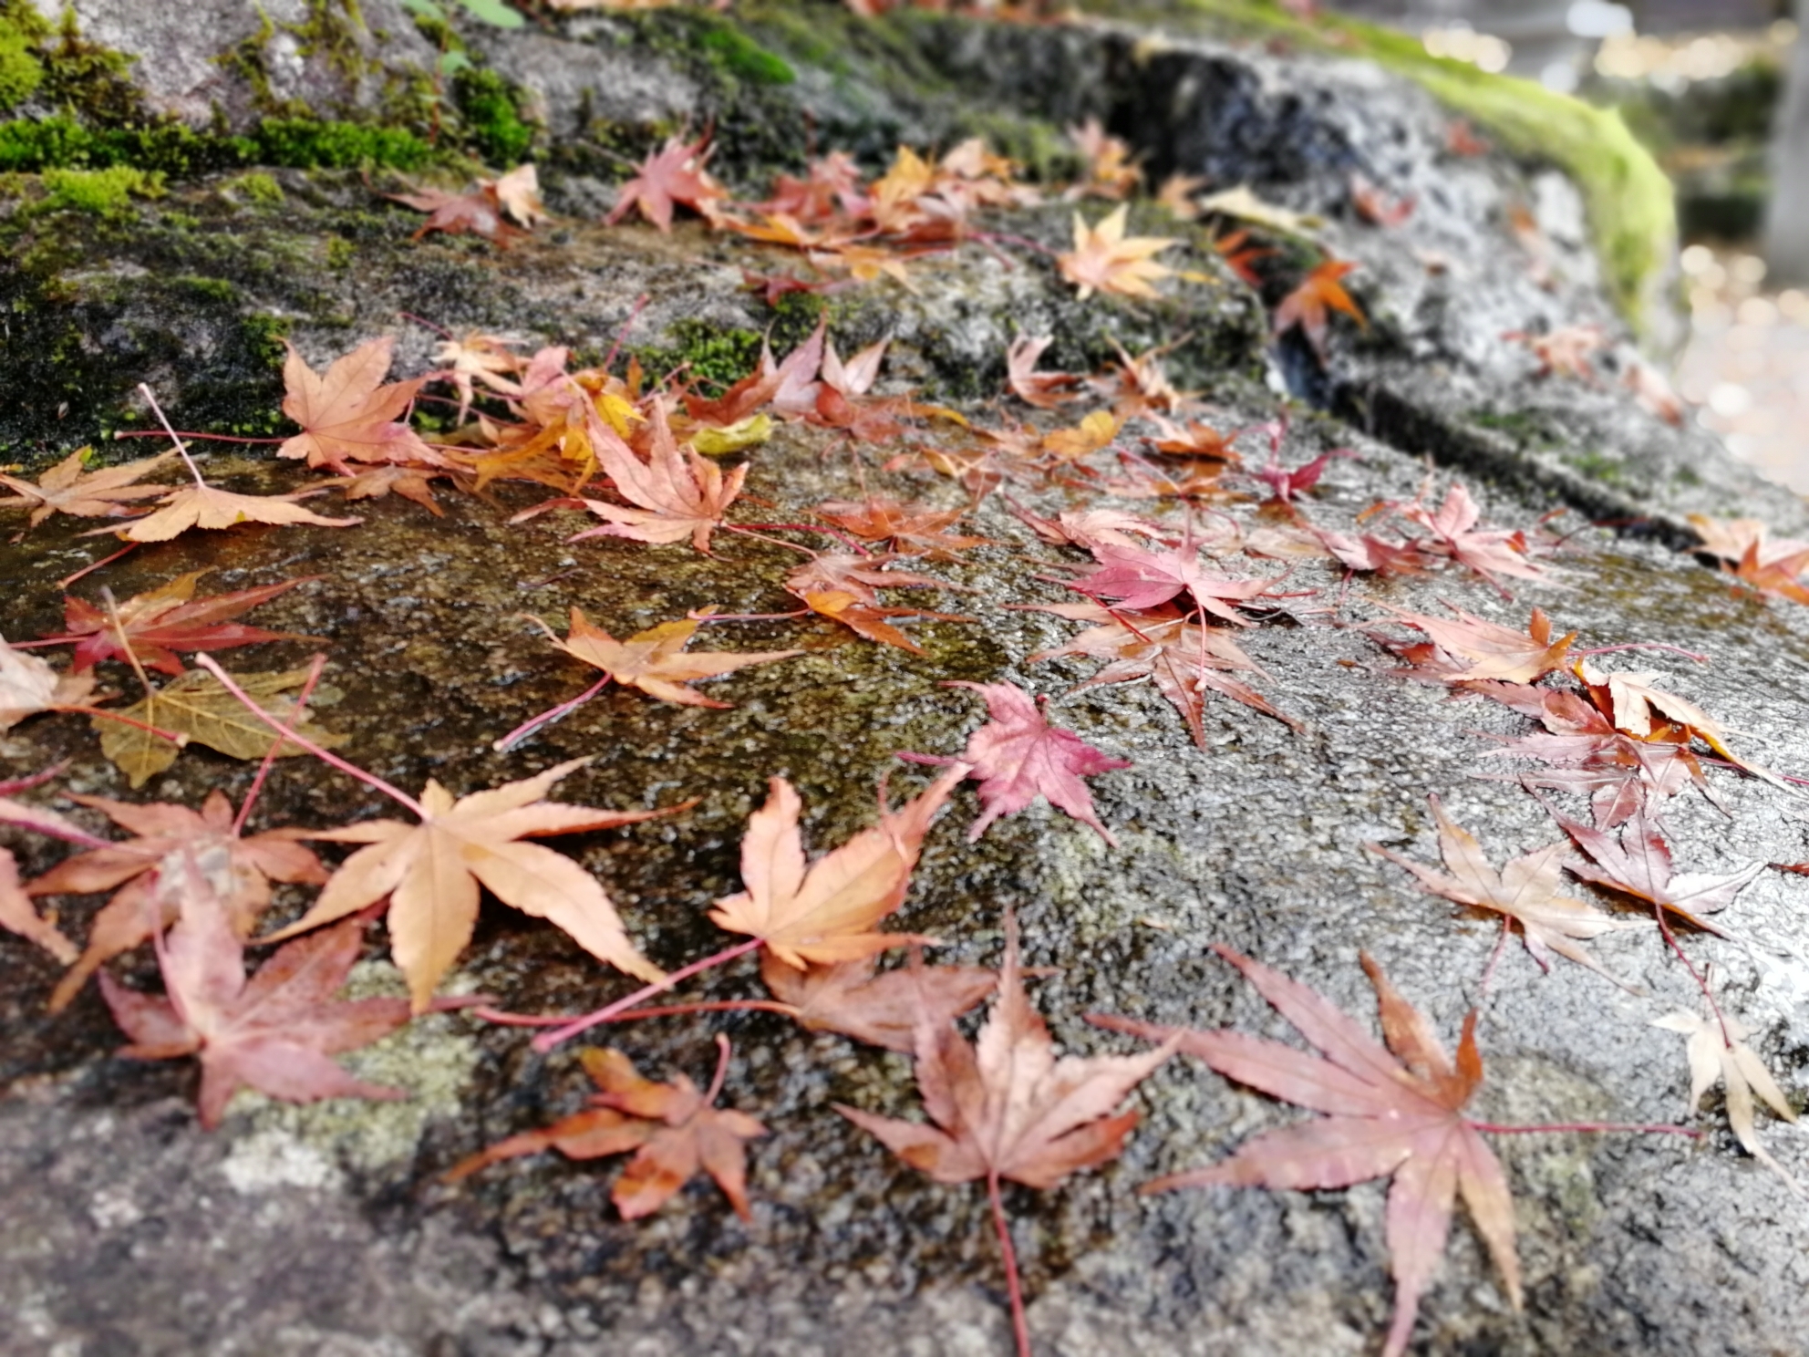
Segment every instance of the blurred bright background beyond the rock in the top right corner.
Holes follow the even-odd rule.
[[[1324,7],[1621,110],[1677,185],[1691,327],[1673,384],[1735,456],[1809,494],[1809,0]]]

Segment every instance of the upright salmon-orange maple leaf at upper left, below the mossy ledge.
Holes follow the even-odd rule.
[[[288,344],[288,340],[284,340]],[[302,432],[277,449],[279,458],[308,458],[309,467],[331,467],[346,474],[353,461],[416,461],[443,467],[445,458],[420,440],[409,425],[398,423],[414,402],[425,376],[382,385],[389,373],[394,340],[382,335],[365,340],[326,375],[288,344],[282,362],[282,413],[302,425]]]

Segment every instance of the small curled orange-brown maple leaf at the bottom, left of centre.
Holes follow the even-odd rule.
[[[716,1037],[727,1060],[729,1040]],[[590,1107],[554,1122],[545,1131],[526,1131],[497,1142],[456,1163],[447,1181],[458,1181],[499,1160],[557,1149],[568,1160],[595,1160],[635,1153],[610,1191],[622,1219],[658,1210],[698,1172],[716,1180],[734,1214],[753,1219],[747,1209],[747,1151],[743,1142],[767,1129],[747,1113],[715,1107],[720,1077],[700,1093],[684,1075],[671,1084],[642,1078],[633,1062],[617,1051],[588,1049],[579,1055],[584,1073],[601,1089]]]

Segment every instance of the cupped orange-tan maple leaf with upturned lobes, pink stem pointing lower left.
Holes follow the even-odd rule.
[[[731,934],[758,937],[771,955],[798,970],[933,943],[876,928],[904,903],[923,836],[966,774],[968,765],[955,764],[897,811],[881,802],[877,825],[809,867],[798,830],[803,802],[785,778],[772,778],[767,803],[747,818],[742,836],[743,888],[718,899],[709,917]]]

